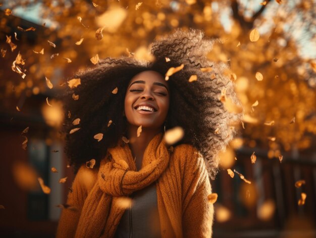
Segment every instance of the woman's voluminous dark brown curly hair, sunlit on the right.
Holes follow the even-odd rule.
[[[225,73],[228,66],[206,58],[214,42],[205,38],[201,30],[178,29],[151,43],[152,62],[133,57],[106,58],[95,68],[76,73],[74,77],[80,78],[81,84],[68,88],[63,96],[66,119],[62,130],[66,134],[65,152],[75,173],[92,158],[98,166],[107,149],[116,146],[125,134],[124,98],[131,78],[145,70],[165,75],[169,68],[184,64],[184,68],[168,80],[170,106],[166,130],[175,126],[184,129],[184,137],[174,146],[195,147],[204,158],[209,177],[214,179],[219,164],[217,154],[233,138],[235,129],[231,125],[242,116],[242,113],[228,112],[220,101],[221,92],[226,89],[226,95],[240,105],[233,82]],[[166,57],[170,61],[167,62]],[[212,71],[201,68],[212,68]],[[189,82],[191,75],[196,75],[197,80]],[[114,94],[116,87],[118,92]],[[73,93],[80,98],[73,100]],[[80,123],[74,126],[72,122],[76,118],[80,118]],[[112,124],[108,126],[110,120]],[[80,129],[70,134],[75,127]],[[97,133],[103,133],[102,140],[93,138]]]

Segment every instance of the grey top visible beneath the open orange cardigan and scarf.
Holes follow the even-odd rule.
[[[130,198],[132,206],[125,210],[114,237],[161,237],[155,182],[134,192]]]

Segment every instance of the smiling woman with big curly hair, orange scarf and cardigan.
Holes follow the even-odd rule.
[[[240,120],[219,100],[225,89],[238,103],[227,67],[206,59],[212,45],[199,30],[177,30],[151,44],[153,62],[107,58],[76,75],[81,84],[65,104],[65,132],[78,172],[57,237],[212,236],[209,178]],[[175,126],[184,136],[171,147],[164,134]]]

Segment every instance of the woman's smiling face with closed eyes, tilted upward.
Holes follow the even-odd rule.
[[[129,82],[125,94],[125,116],[131,125],[160,128],[169,109],[169,87],[155,71],[143,71]]]

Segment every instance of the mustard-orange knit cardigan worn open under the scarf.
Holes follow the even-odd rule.
[[[62,211],[57,238],[75,237],[81,209],[97,173],[98,168],[80,167],[68,194],[67,204],[71,207]],[[160,220],[168,227],[162,230],[163,238],[212,237],[214,207],[207,200],[212,191],[204,160],[194,147],[187,144],[175,147],[167,169],[155,182]],[[113,224],[110,237],[118,224]]]

